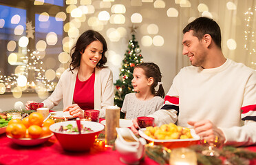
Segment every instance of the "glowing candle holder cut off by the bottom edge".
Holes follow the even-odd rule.
[[[195,151],[189,148],[175,148],[171,151],[170,165],[197,165]]]

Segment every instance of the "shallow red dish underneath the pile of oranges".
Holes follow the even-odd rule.
[[[30,138],[15,139],[13,137],[10,137],[10,135],[7,135],[7,137],[9,137],[10,140],[12,140],[12,142],[14,142],[15,144],[19,144],[21,146],[36,146],[39,144],[43,144],[44,142],[49,140],[50,137],[52,137],[52,135],[54,135],[54,133],[52,133],[51,135],[45,136],[45,137],[40,137],[38,139],[30,139]]]

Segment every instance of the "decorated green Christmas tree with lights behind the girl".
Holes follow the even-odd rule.
[[[134,27],[131,32],[135,32]],[[134,67],[139,63],[143,62],[143,57],[140,54],[141,50],[138,45],[138,41],[135,39],[135,35],[132,33],[131,40],[128,44],[128,50],[125,53],[125,58],[122,61],[122,69],[120,72],[120,80],[116,80],[116,94],[114,99],[114,104],[118,107],[122,107],[122,102],[126,94],[133,92],[133,86],[131,85],[131,80],[133,79]],[[121,113],[121,118],[123,118]]]

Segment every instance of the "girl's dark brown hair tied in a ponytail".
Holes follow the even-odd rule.
[[[154,96],[160,96],[161,98],[164,98],[164,88],[162,87],[162,85],[159,85],[158,91],[155,90],[155,87],[158,85],[158,82],[161,82],[162,79],[162,74],[160,72],[158,65],[156,65],[155,63],[140,63],[136,67],[143,69],[145,72],[145,76],[147,76],[147,78],[153,78],[153,84],[150,87],[151,93]]]

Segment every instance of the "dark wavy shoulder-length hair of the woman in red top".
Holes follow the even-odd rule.
[[[105,63],[107,63],[107,57],[105,56],[105,52],[107,52],[107,42],[105,41],[104,37],[94,30],[87,30],[79,36],[79,38],[76,41],[76,45],[72,47],[70,54],[71,54],[71,63],[70,63],[70,70],[76,69],[76,67],[80,66],[81,61],[81,52],[85,52],[86,47],[91,44],[94,41],[100,41],[100,43],[103,44],[103,54],[98,61],[98,64],[96,67],[98,68],[104,68]]]

